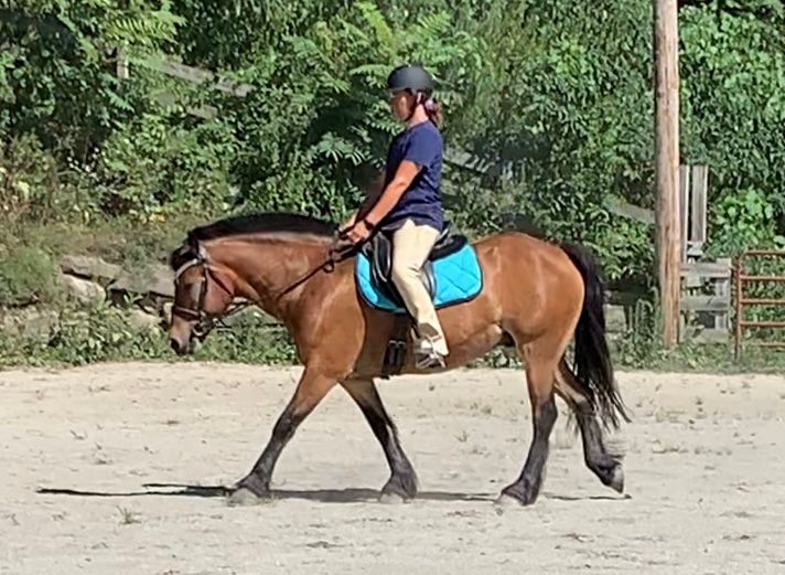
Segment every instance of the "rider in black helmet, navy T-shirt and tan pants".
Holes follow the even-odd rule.
[[[392,283],[415,319],[417,365],[444,366],[447,340],[419,277],[444,226],[441,105],[432,97],[430,74],[419,65],[396,67],[387,78],[387,88],[392,113],[406,128],[390,143],[378,200],[359,221],[357,212],[352,214],[342,231],[354,244],[366,241],[377,228],[391,234]]]

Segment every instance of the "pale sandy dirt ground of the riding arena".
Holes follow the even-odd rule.
[[[497,507],[531,436],[517,371],[383,382],[421,496],[340,388],[230,508],[299,369],[0,372],[2,574],[785,573],[785,377],[621,373],[627,490],[583,466],[564,406],[534,507]],[[197,489],[201,486],[203,489]],[[62,490],[41,492],[41,489]]]

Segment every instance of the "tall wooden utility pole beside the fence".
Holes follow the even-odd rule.
[[[681,287],[679,220],[679,50],[677,0],[654,1],[656,65],[657,273],[663,343],[678,340]]]

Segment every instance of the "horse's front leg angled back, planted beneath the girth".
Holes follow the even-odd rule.
[[[417,494],[415,468],[400,446],[398,429],[390,416],[387,415],[374,381],[347,380],[342,385],[357,403],[385,451],[387,464],[390,467],[390,478],[381,488],[381,496],[413,498]]]

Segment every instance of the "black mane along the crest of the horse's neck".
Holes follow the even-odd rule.
[[[192,259],[195,256],[197,242],[243,234],[273,233],[332,237],[336,227],[333,222],[311,215],[286,212],[266,212],[225,217],[189,231],[187,239],[170,255],[169,265],[172,269],[178,269],[189,259]]]

